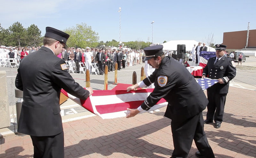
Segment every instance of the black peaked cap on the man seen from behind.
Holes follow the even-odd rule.
[[[56,28],[52,28],[52,27],[46,27],[46,33],[44,35],[44,37],[50,37],[54,40],[60,41],[62,43],[65,43],[65,49],[68,48],[67,46],[67,40],[69,38],[69,34],[66,34],[65,32],[62,32],[60,30],[57,30]]]

